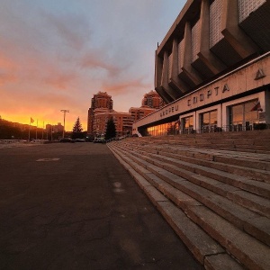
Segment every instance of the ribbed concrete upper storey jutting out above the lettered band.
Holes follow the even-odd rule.
[[[238,1],[232,0],[186,2],[156,50],[155,89],[166,103],[269,51],[269,1],[260,0],[239,23],[249,5],[238,8]]]

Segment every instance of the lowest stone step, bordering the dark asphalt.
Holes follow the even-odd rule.
[[[117,149],[110,146],[112,153],[119,159],[140,188],[148,195],[148,198],[157,206],[166,221],[175,230],[175,233],[181,238],[193,253],[193,256],[205,266],[205,269],[218,270],[220,266],[229,266],[229,269],[244,269],[238,262],[230,257],[217,241],[211,238],[203,229],[190,220],[184,211],[181,211],[170,202],[166,196],[157,191],[157,189],[140,175],[132,166],[137,167],[130,157],[122,154]],[[117,154],[118,153],[118,154]],[[130,164],[132,166],[130,166]],[[225,269],[225,268],[224,268]]]

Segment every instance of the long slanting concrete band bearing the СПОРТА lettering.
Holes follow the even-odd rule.
[[[133,130],[168,122],[181,114],[210,107],[212,104],[237,99],[238,96],[254,93],[256,89],[263,91],[269,85],[270,52],[267,52],[139,119],[133,123]]]

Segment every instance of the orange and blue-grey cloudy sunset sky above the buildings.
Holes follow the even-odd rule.
[[[113,109],[139,107],[154,89],[155,50],[184,0],[0,0],[0,115],[63,124],[98,91]]]

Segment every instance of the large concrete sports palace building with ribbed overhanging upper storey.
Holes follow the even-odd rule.
[[[166,106],[133,124],[143,135],[252,130],[270,123],[270,2],[189,0],[156,50]]]

